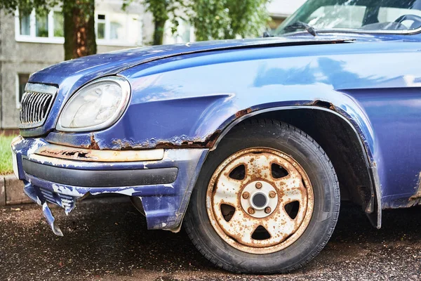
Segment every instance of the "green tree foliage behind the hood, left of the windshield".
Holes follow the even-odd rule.
[[[133,1],[124,0],[123,10]],[[173,33],[177,31],[180,20],[191,22],[196,30],[197,41],[255,37],[262,33],[270,20],[266,9],[270,0],[140,1],[154,17],[154,44],[159,44],[155,35],[163,32],[167,20],[171,20]]]

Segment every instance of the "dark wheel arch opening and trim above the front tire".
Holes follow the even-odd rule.
[[[331,110],[328,103],[272,107],[246,112],[222,129],[212,150],[234,126],[246,119],[267,119],[286,122],[298,127],[319,143],[332,161],[340,183],[341,197],[361,205],[370,222],[381,226],[381,191],[375,165],[370,165],[364,136],[352,122]]]

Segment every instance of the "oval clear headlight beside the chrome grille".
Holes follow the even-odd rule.
[[[67,101],[58,118],[59,131],[93,131],[116,122],[130,98],[130,84],[121,77],[92,81]]]

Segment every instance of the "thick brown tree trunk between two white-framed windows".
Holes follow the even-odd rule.
[[[65,60],[95,54],[95,0],[64,0],[63,14]]]

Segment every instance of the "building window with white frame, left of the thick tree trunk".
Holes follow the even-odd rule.
[[[63,15],[58,11],[46,14],[36,14],[35,11],[25,15],[16,12],[15,16],[16,41],[58,43],[65,39]]]

